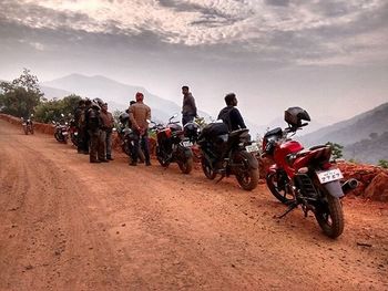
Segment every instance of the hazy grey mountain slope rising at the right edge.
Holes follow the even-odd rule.
[[[300,137],[307,145],[337,143],[351,145],[369,138],[372,133],[382,134],[388,128],[388,103],[355,117],[320,128]]]

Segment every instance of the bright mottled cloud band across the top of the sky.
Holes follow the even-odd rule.
[[[239,52],[261,61],[325,65],[357,63],[360,55],[364,63],[385,59],[387,8],[385,0],[3,0],[0,20],[151,40],[157,48],[213,48],[218,58]]]

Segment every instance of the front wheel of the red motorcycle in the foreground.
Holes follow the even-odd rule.
[[[267,186],[270,193],[282,204],[289,205],[295,200],[294,194],[290,190],[288,178],[285,173],[270,173],[266,177]]]

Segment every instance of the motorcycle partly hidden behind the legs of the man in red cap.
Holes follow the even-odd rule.
[[[132,154],[132,148],[134,146],[134,141],[136,139],[135,134],[133,133],[133,131],[127,126],[130,119],[130,115],[127,113],[122,113],[119,116],[119,128],[118,131],[118,135],[119,138],[121,141],[120,145],[121,145],[121,149],[129,156],[131,157]],[[144,157],[144,153],[142,150],[141,147],[139,147],[139,162],[140,163],[144,163],[145,157]]]

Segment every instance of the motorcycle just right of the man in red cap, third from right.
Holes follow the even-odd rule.
[[[191,142],[184,136],[178,122],[173,121],[176,116],[177,114],[170,117],[165,126],[151,122],[151,129],[156,132],[156,158],[163,167],[175,162],[183,174],[190,174],[193,169]]]

